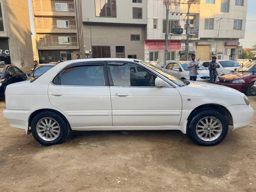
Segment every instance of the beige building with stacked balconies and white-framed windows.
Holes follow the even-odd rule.
[[[31,0],[39,60],[84,58],[81,0]]]

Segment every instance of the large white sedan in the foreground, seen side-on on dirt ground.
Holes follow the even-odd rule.
[[[182,81],[132,59],[69,60],[31,81],[10,84],[3,115],[41,144],[70,130],[180,130],[197,144],[220,143],[251,123],[248,98],[234,89]],[[243,114],[243,115],[241,115]]]

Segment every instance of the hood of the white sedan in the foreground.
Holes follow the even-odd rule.
[[[180,92],[182,97],[215,97],[228,99],[238,99],[244,97],[244,93],[241,93],[230,87],[198,81],[190,81],[189,85],[184,87],[178,87],[177,90]],[[244,102],[244,100],[242,101]]]

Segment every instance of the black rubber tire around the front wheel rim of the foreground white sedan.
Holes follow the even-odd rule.
[[[222,132],[220,133],[220,136],[212,141],[204,141],[200,139],[196,134],[196,125],[197,123],[203,119],[204,117],[215,117],[217,118],[220,123],[222,124]],[[228,121],[220,112],[209,109],[209,108],[202,108],[196,112],[194,112],[191,117],[188,119],[188,135],[189,137],[198,145],[201,146],[213,146],[219,144],[222,140],[225,139],[228,133]]]

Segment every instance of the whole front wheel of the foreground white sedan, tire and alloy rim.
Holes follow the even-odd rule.
[[[214,109],[201,109],[193,113],[188,123],[188,135],[198,145],[217,145],[228,133],[227,119]]]

